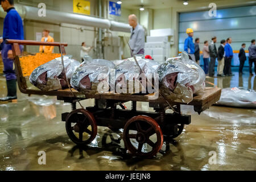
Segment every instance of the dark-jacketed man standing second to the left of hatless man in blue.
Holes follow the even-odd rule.
[[[212,38],[212,42],[209,45],[209,53],[210,53],[210,65],[209,65],[209,76],[214,77],[214,67],[217,57],[217,48],[215,43],[217,42],[216,36]]]

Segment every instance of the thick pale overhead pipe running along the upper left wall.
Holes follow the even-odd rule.
[[[46,16],[38,16],[38,8],[32,6],[23,6],[24,19],[40,20],[48,23],[70,23],[82,26],[106,28],[112,31],[130,32],[130,26],[126,23],[115,22],[113,20],[95,18],[92,16],[64,13],[61,11],[47,10]]]

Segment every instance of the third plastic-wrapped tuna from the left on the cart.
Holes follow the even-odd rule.
[[[136,57],[139,67],[145,73],[142,74],[141,69],[135,63],[133,57],[124,60],[118,64],[115,69],[115,92],[117,93],[146,93],[147,82],[146,77],[152,81],[154,73],[158,68],[158,62],[154,60]]]

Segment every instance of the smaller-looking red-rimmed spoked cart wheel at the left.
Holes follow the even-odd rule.
[[[89,144],[97,135],[93,114],[85,109],[76,109],[66,118],[68,137],[76,144]]]

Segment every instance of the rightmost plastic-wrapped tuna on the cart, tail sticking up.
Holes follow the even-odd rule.
[[[156,72],[159,74],[160,90],[170,101],[189,103],[193,94],[205,89],[203,69],[185,52],[168,59]]]

